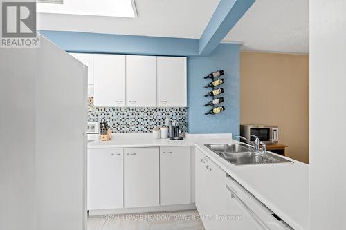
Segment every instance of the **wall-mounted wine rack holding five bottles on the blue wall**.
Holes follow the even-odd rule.
[[[220,105],[222,102],[224,102],[224,97],[220,97],[219,102],[217,104],[214,104],[216,96],[219,96],[222,93],[224,93],[223,88],[217,88],[218,86],[220,86],[221,84],[224,84],[224,82],[225,82],[224,79],[219,78],[222,75],[224,75],[224,70],[217,70],[215,72],[210,73],[209,75],[206,75],[206,77],[204,77],[204,79],[212,79],[212,82],[209,83],[208,85],[206,85],[205,88],[208,88],[208,87],[210,87],[210,85],[212,85],[211,86],[212,92],[215,92],[215,90],[220,90],[219,91],[220,93],[217,95],[214,95],[212,93],[212,95],[211,95],[212,101],[210,101],[211,104],[210,104],[210,102],[208,102],[207,104],[204,105],[204,106],[212,106],[212,109],[210,111],[208,111],[207,113],[205,113],[205,115],[209,115],[209,114],[215,115],[215,114],[221,113],[222,111],[225,110],[225,107]],[[219,79],[217,79],[217,78],[219,78]],[[214,86],[214,84],[213,84],[215,81],[219,81],[216,86]],[[210,96],[210,93],[211,92],[209,92],[207,95],[205,95],[205,97],[208,95]]]

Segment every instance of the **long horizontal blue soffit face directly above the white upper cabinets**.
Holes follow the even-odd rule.
[[[40,30],[39,33],[68,52],[162,56],[199,55],[199,39],[48,30]]]

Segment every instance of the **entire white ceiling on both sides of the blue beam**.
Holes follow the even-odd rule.
[[[135,3],[136,18],[40,13],[37,27],[199,39],[219,0],[135,0]],[[308,53],[309,0],[256,0],[223,41],[241,42],[243,50]]]

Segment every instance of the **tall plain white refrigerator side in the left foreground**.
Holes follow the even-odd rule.
[[[87,69],[42,37],[35,82],[37,230],[86,229]]]

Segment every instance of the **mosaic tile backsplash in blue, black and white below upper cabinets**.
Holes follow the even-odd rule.
[[[164,126],[166,118],[176,119],[186,131],[187,117],[187,108],[94,107],[93,97],[89,97],[88,122],[106,119],[112,133],[150,133],[153,128]]]

